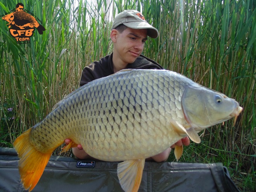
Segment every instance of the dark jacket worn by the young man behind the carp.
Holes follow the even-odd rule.
[[[85,67],[82,72],[80,86],[89,83],[90,81],[109,76],[114,74],[113,70],[113,53],[101,58],[99,61],[91,63],[89,66]],[[129,63],[126,69],[164,69],[157,62],[140,55],[135,62]]]

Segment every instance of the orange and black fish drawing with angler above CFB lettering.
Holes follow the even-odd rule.
[[[24,5],[22,3],[18,3],[14,12],[2,17],[4,21],[9,22],[7,24],[9,25],[8,28],[11,26],[16,26],[20,29],[35,27],[38,33],[42,35],[45,28],[36,21],[35,17],[25,12],[23,7]]]

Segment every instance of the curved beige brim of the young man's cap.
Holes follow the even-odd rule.
[[[125,22],[123,23],[126,27],[132,28],[132,29],[148,29],[147,35],[151,38],[157,38],[159,33],[156,28],[152,27],[147,22],[139,22],[139,21],[132,21],[132,22]]]

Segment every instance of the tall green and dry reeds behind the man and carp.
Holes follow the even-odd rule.
[[[255,0],[2,0],[0,15],[18,2],[46,31],[17,44],[0,19],[0,146],[12,147],[78,88],[83,67],[111,53],[113,18],[136,9],[160,32],[144,55],[244,108],[235,126],[229,120],[202,132],[201,144],[185,147],[181,161],[221,162],[241,191],[256,191]]]

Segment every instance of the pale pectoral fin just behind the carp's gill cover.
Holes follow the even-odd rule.
[[[189,127],[189,128],[185,128],[182,125],[180,125],[180,123],[176,122],[176,121],[170,121],[171,126],[173,127],[173,129],[176,131],[176,133],[178,133],[179,135],[182,135],[184,133],[186,133],[189,138],[194,141],[195,143],[200,143],[201,139],[198,136],[197,132],[194,130],[193,127]]]

